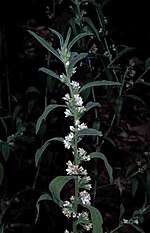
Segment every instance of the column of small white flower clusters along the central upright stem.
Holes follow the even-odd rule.
[[[67,61],[65,61],[65,64],[66,63]],[[75,73],[75,68],[73,73]],[[66,163],[66,173],[69,176],[74,176],[77,184],[77,187],[75,187],[75,195],[72,196],[69,201],[64,201],[62,213],[67,218],[72,217],[76,221],[76,224],[80,224],[86,231],[90,231],[92,223],[90,222],[88,212],[78,212],[78,204],[91,205],[91,196],[88,192],[92,188],[90,184],[91,178],[88,176],[87,170],[81,165],[82,162],[89,161],[90,156],[83,148],[78,147],[78,143],[82,139],[78,136],[79,132],[88,129],[87,125],[80,121],[86,108],[84,107],[83,99],[79,94],[81,88],[79,83],[71,81],[70,78],[67,79],[67,75],[65,74],[62,74],[60,78],[67,84],[70,90],[70,92],[66,93],[63,97],[67,106],[64,114],[66,118],[72,117],[74,121],[74,124],[69,127],[70,132],[63,140],[64,147],[66,149],[71,149],[74,156],[73,161],[69,160]],[[68,232],[68,230],[65,232]]]

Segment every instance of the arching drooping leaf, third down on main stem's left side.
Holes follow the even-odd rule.
[[[42,121],[44,121],[47,117],[47,115],[55,108],[58,108],[58,107],[63,107],[63,108],[66,108],[67,106],[66,105],[61,105],[61,104],[50,104],[48,105],[43,114],[39,117],[39,119],[37,120],[37,123],[36,123],[36,133],[39,131],[40,129],[40,126],[42,124]]]

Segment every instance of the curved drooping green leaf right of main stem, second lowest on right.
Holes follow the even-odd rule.
[[[90,156],[90,158],[100,158],[104,161],[105,167],[106,167],[108,175],[109,175],[110,183],[112,183],[113,170],[112,170],[112,167],[110,166],[110,164],[108,163],[106,156],[103,153],[98,152],[98,151],[90,153],[89,156]]]

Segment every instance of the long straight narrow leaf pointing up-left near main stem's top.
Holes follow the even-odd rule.
[[[51,52],[55,57],[57,57],[60,61],[61,58],[59,56],[59,53],[51,46],[50,43],[48,43],[46,40],[44,40],[41,36],[38,36],[35,32],[32,32],[28,30],[28,32],[41,44],[43,47],[45,47],[49,52]],[[63,61],[62,61],[63,62]]]

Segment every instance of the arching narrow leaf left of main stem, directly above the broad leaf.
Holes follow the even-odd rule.
[[[63,138],[61,137],[55,137],[55,138],[51,138],[49,140],[47,140],[35,153],[35,163],[36,166],[39,162],[39,159],[41,158],[41,155],[43,154],[43,152],[46,150],[46,148],[50,145],[51,142],[53,141],[59,141],[59,142],[63,142]]]

